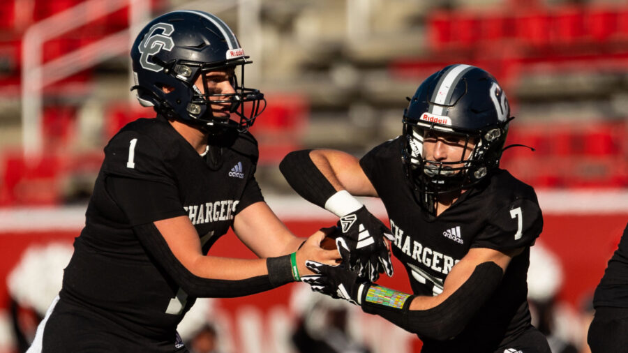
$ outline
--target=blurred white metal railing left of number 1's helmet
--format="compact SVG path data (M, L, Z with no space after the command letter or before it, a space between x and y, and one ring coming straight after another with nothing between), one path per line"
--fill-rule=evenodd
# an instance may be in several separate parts
M128 29L43 63L43 43L63 33L129 6L129 25L135 29L150 10L149 0L89 0L33 24L22 39L22 144L27 160L42 152L43 88L80 70L128 52Z

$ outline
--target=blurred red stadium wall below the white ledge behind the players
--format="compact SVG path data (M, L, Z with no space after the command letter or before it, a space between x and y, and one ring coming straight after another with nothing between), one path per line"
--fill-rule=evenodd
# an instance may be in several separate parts
M619 241L626 222L628 212L612 214L555 214L546 213L544 216L544 232L541 234L541 241L551 249L562 261L565 270L564 285L560 290L559 298L567 301L578 308L581 301L595 288L604 269L606 262L612 255ZM287 220L286 224L295 234L312 234L319 227L329 225L330 220ZM20 256L28 246L43 244L50 241L67 241L71 243L73 238L79 234L80 230L60 230L60 231L11 231L0 232L0 280L6 283L8 273L20 260ZM234 234L223 236L214 248L211 255L253 257L250 250L244 247ZM401 263L394 260L396 268L394 278L383 278L380 283L389 287L409 291L408 277L403 272ZM281 311L286 313L282 317L287 317L287 325L294 324L294 313L290 313L288 301L295 285L286 285L271 292L256 294L239 299L219 299L216 301L217 310L227 317L232 326L232 344L237 347L235 352L245 352L244 346L262 342L266 347L271 347L267 342L270 338L266 332L272 325L273 317ZM0 289L0 310L6 310L8 306L8 294L5 287ZM260 330L255 333L246 333L241 330L241 319L243 315L258 317L258 324L262 324ZM290 321L292 320L292 321ZM384 320L380 320L370 315L362 318L371 331L381 330ZM239 324L238 324L239 322ZM361 322L362 323L362 322ZM384 326L388 327L388 326ZM387 328L389 329L389 328ZM255 330L253 330L255 331ZM285 333L287 334L287 333ZM368 335L368 332L365 333ZM377 337L371 345L377 345ZM408 347L408 352L417 351L420 342L413 336L400 336L403 344ZM248 342L248 343L247 343ZM252 343L253 342L253 343ZM380 343L381 344L381 343ZM270 345L270 346L269 346ZM271 352L272 350L261 350L260 352Z

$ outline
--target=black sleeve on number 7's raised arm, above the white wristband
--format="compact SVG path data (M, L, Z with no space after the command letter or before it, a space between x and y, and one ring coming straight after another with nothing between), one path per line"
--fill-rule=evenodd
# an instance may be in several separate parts
M336 189L312 162L310 151L304 149L288 153L279 163L279 170L297 194L324 208L325 202L336 193Z

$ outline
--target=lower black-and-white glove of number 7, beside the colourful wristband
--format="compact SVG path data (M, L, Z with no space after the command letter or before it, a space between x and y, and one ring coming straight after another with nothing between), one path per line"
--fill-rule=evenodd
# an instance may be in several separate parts
M314 275L301 276L301 280L311 286L314 292L327 294L335 299L345 299L356 305L361 304L361 296L371 286L371 282L360 278L345 266L329 266L315 261L306 261L306 266Z

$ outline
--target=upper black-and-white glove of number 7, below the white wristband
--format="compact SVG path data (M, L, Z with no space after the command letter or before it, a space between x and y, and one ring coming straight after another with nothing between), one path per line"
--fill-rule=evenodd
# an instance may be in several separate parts
M338 220L342 236L336 238L336 247L348 268L357 271L360 277L375 282L380 273L393 275L390 251L384 243L384 236L394 241L391 231L361 206L357 211Z

